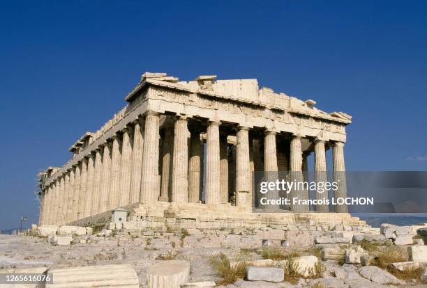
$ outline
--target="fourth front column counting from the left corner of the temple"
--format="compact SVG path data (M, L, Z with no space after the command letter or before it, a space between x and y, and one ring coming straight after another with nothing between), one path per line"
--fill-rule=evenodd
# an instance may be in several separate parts
M249 129L237 131L236 206L250 207Z

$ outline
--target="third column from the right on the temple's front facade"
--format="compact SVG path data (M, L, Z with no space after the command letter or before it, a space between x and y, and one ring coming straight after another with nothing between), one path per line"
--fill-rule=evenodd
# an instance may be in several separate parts
M302 149L301 149L301 136L294 135L290 143L290 181L296 183L304 182L302 175ZM301 186L301 185L300 185ZM305 199L306 192L303 187L297 187L291 191L291 210L296 212L308 211L308 205L294 204L294 199Z

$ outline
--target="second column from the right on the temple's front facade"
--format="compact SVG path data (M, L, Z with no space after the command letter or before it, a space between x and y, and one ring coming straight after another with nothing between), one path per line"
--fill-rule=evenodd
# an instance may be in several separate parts
M315 182L317 184L326 183L327 177L327 163L326 163L326 151L324 150L324 141L315 140ZM321 191L317 189L315 191L316 200L327 200L328 191ZM316 211L318 212L329 212L329 205L316 205Z

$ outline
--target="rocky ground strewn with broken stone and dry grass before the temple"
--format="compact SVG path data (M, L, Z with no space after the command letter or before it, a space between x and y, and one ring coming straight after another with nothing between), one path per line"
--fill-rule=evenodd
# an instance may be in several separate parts
M411 228L383 225L377 232L366 230L359 234L353 231L351 239L344 232L344 227L313 234L288 231L284 237L289 238L292 245L282 241L282 246L263 240L264 236L260 236L265 235L263 231L159 233L103 230L92 235L74 234L69 245L59 245L52 241L52 237L49 241L53 243L48 243L47 237L40 235L2 234L0 273L5 269L33 266L57 269L131 264L141 287L144 287L149 267L181 259L190 263L188 282L214 281L227 288L427 287L423 282L427 281L427 270L424 271L425 263L422 262L423 257L427 262L426 250L413 250L417 255L406 252L410 246L427 247L421 243L422 237L411 234ZM301 239L301 245L297 245L298 239ZM416 257L417 261L411 261ZM393 266L391 263L394 262L408 263ZM249 266L262 266L267 270L248 274L245 268ZM277 273L273 275L273 267L282 269L279 278L285 271L284 280L272 282L277 277Z

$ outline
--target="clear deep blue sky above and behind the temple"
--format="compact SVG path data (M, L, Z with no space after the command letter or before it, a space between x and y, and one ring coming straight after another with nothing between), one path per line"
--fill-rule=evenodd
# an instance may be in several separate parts
M257 78L353 116L347 170L426 170L426 15L426 1L2 1L0 229L38 221L38 170L144 71Z

